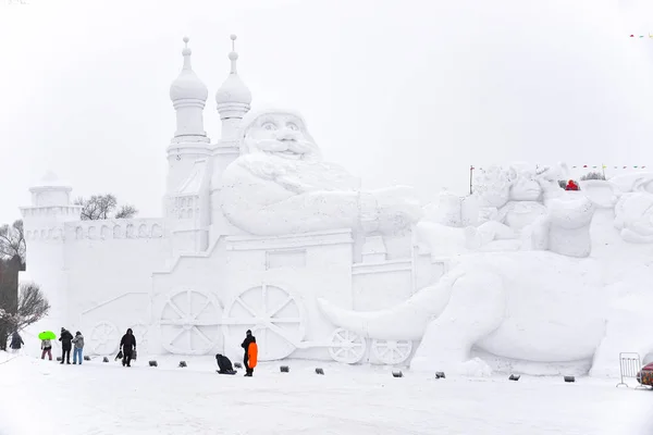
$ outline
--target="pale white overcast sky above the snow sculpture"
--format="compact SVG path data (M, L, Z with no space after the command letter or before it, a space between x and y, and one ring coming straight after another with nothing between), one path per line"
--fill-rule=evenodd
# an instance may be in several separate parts
M26 1L0 4L0 223L48 170L160 215L185 35L212 139L235 33L252 105L300 111L369 187L429 201L470 164L653 166L651 1Z

